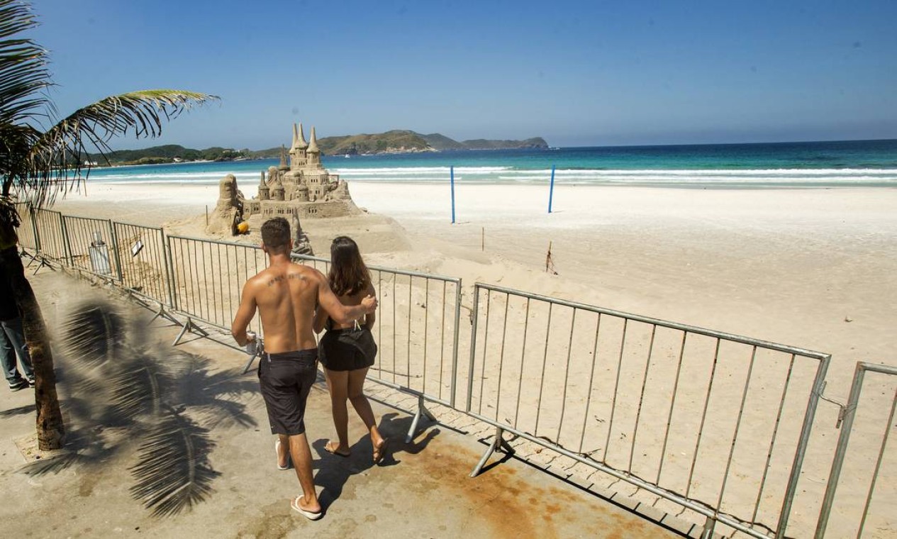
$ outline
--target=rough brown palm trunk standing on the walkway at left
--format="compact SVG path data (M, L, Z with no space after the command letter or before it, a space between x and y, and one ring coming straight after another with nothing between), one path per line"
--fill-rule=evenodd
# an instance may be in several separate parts
M37 404L38 448L60 449L65 436L65 425L59 409L56 391L56 371L53 369L53 352L50 351L47 325L40 314L40 306L31 284L25 278L25 268L16 246L0 251L0 259L6 267L13 286L15 302L22 312L22 328L25 342L34 365L34 400Z

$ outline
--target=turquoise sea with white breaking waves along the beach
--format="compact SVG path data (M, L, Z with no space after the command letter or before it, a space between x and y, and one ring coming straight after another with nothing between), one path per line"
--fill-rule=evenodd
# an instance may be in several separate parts
M651 187L897 187L897 140L701 144L325 156L350 181L547 183ZM94 169L91 182L257 184L278 161Z

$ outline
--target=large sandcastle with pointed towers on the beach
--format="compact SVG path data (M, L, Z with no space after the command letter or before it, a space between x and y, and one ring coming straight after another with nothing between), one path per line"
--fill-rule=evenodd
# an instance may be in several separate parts
M222 178L218 202L209 216L206 231L210 234L230 231L236 235L240 222L248 222L258 215L259 225L272 217L292 220L296 227L294 233L303 235L298 227L302 217L342 217L360 213L345 181L321 164L314 126L311 127L311 139L306 142L302 125L297 128L293 124L289 165L286 153L281 147L280 165L268 167L267 174L264 170L261 172L257 197L243 196L237 188L237 178L232 174Z

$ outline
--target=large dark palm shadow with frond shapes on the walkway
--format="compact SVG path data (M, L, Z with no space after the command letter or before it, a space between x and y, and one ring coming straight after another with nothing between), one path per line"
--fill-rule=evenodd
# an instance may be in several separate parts
M66 453L25 473L115 465L136 443L131 495L153 516L170 517L213 492L220 474L208 459L215 447L210 430L255 427L239 397L257 384L240 369L214 372L208 358L148 343L132 329L105 301L86 302L68 317L58 381L75 428Z

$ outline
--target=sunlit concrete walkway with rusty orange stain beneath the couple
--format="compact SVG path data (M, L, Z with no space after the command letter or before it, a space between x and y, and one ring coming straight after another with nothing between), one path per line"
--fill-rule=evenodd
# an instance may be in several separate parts
M50 327L59 326L73 296L97 293L65 274L41 270L31 279ZM143 312L145 311L138 311ZM145 316L145 314L143 315ZM153 324L161 357L177 335L175 326ZM231 374L245 354L207 339L187 337L179 351L207 358L207 374L255 383L254 370ZM57 356L59 347L57 346ZM59 358L57 363L64 362ZM231 377L231 378L228 378ZM195 388L197 391L199 388ZM210 388L206 387L205 391ZM390 438L382 465L370 462L370 441L350 409L352 456L332 456L324 445L333 435L323 385L309 396L306 418L325 516L311 522L290 509L300 493L293 470L274 463L264 403L257 390L219 396L242 406L240 421L219 418L210 428L215 447L209 461L220 474L213 491L173 517L153 517L129 491L143 432L102 430L104 456L91 464L30 475L28 449L34 436L31 390L0 389L0 504L3 535L9 537L675 537L679 536L549 474L509 459L476 479L467 474L483 444L440 425L413 443L404 435L412 418L372 403ZM65 404L64 404L65 405ZM84 425L69 425L77 432ZM21 446L20 447L17 447ZM24 451L24 454L23 454Z

